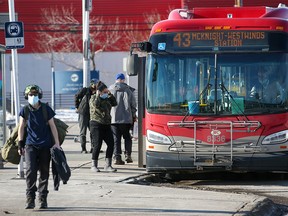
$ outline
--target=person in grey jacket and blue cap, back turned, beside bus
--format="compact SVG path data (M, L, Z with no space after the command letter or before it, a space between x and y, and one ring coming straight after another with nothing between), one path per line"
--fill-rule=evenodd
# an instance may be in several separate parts
M124 165L121 154L121 139L124 138L125 160L132 163L131 125L136 121L137 104L133 88L125 83L125 75L116 75L116 82L109 87L110 92L117 100L117 106L111 109L111 128L114 136L114 159L116 165Z

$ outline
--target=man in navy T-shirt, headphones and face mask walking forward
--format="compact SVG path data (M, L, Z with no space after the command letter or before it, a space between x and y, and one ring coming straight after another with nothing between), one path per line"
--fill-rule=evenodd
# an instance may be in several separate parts
M53 120L55 112L50 106L46 105L47 119L45 119L42 110L44 106L42 106L40 101L43 93L39 86L28 85L25 88L24 96L29 105L23 107L19 114L18 153L20 155L25 154L27 186L25 208L33 209L35 207L35 193L38 191L40 209L46 209L48 207L50 148L60 149L58 132ZM28 119L27 111L29 112ZM26 138L24 136L25 130L27 134ZM54 142L52 138L54 138ZM37 188L38 171L39 184Z

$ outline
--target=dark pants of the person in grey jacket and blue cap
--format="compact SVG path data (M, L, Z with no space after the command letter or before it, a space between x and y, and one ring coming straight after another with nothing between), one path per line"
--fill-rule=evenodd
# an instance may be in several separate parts
M113 137L114 137L114 155L115 159L120 159L121 150L121 138L123 136L125 145L125 154L131 155L132 153L132 139L130 134L131 124L112 124L111 125Z

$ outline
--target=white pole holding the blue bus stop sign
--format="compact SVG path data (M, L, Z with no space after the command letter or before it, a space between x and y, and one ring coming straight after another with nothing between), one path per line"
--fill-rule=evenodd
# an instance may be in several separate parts
M10 22L15 21L15 7L14 0L9 0L9 20ZM13 90L14 90L14 101L15 101L15 123L16 125L19 122L19 89L18 89L18 56L17 49L11 49L12 56L12 76L13 76ZM11 77L12 77L11 76ZM21 156L20 163L18 165L18 175L20 178L24 178L24 168L23 168L23 156Z

